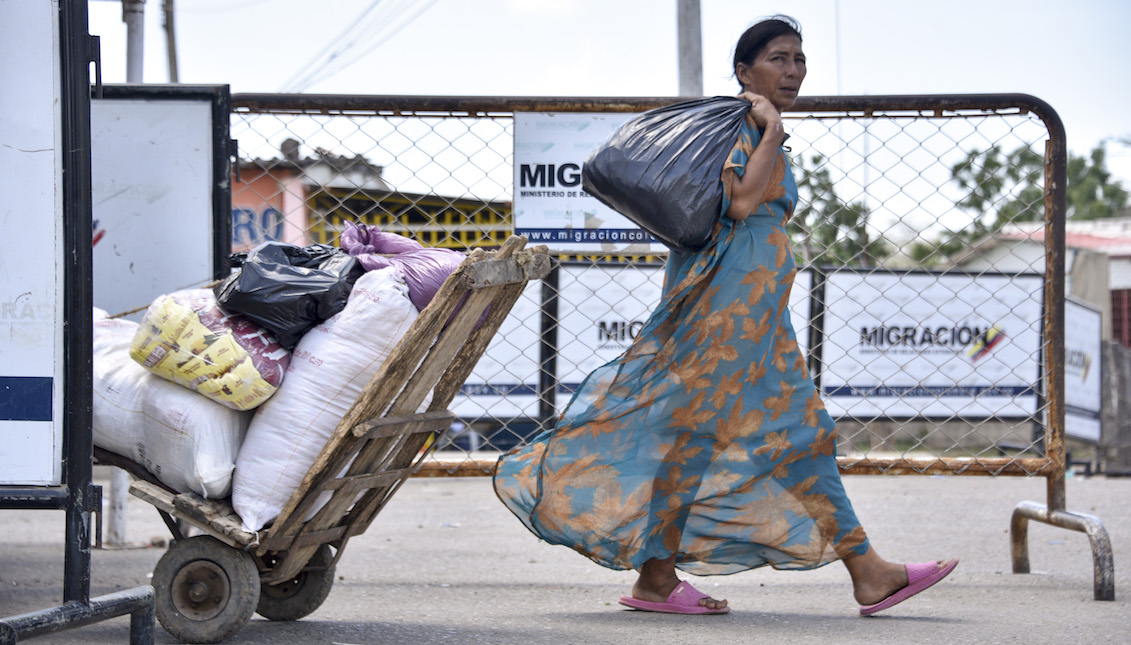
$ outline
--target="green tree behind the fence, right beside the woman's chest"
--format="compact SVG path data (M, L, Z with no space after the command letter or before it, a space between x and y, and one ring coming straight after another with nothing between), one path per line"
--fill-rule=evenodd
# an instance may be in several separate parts
M798 156L800 204L789 220L791 236L806 265L875 266L891 255L872 235L872 210L862 201L846 204L837 196L828 164L821 155Z

